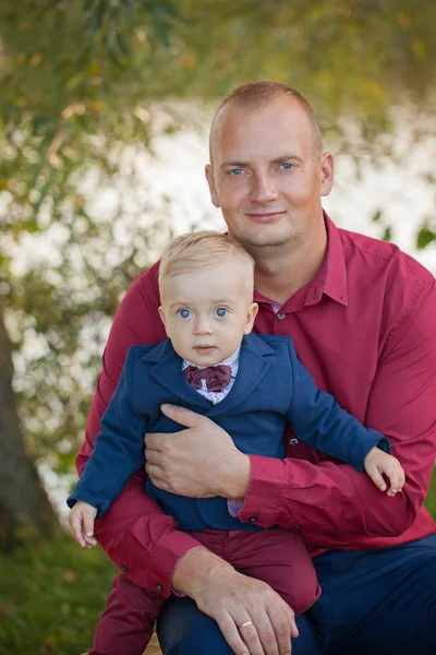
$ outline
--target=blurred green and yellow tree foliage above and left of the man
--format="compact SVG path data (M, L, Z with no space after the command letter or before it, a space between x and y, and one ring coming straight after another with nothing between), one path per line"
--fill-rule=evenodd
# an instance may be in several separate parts
M413 108L416 141L433 133L419 118L435 103L435 24L433 0L0 0L0 296L33 456L71 469L110 319L171 236L165 202L135 195L135 157L254 79L296 86L358 162L393 156L379 139L392 106ZM90 178L114 193L110 217L90 210ZM53 234L58 260L16 272L16 249Z

